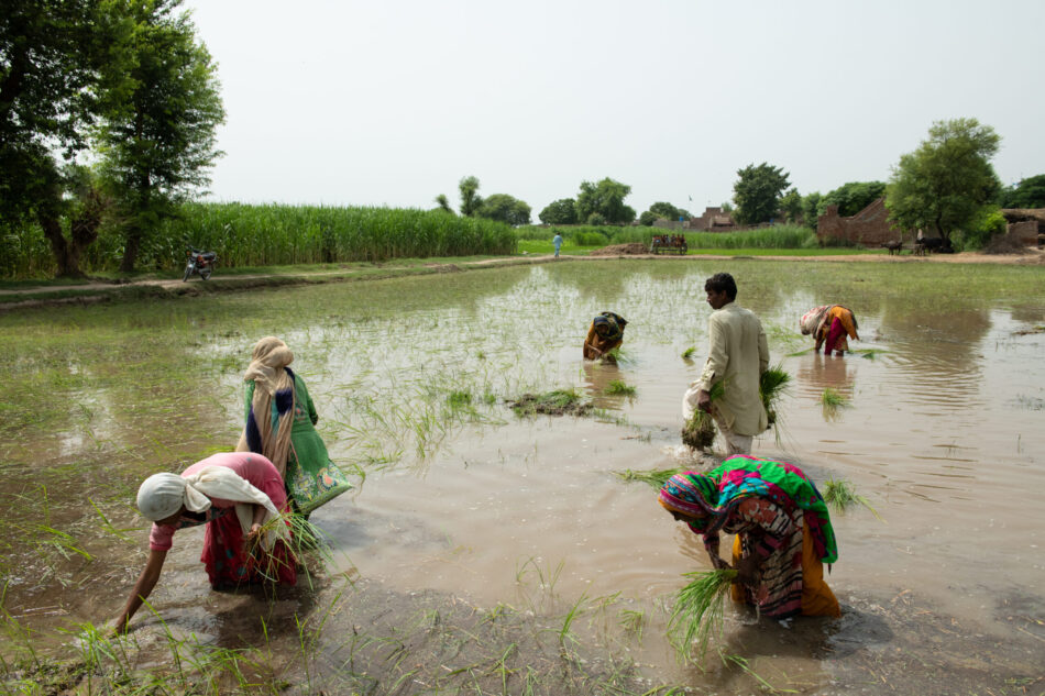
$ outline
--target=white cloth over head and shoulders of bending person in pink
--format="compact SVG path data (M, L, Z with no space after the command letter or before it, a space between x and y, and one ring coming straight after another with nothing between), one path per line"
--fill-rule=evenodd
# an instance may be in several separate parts
M145 519L155 522L170 517L183 505L190 512L202 512L210 508L211 498L234 500L238 504L235 515L244 534L251 531L254 505L265 508L263 524L279 517L279 510L264 491L226 466L208 466L188 476L153 474L138 489L138 509ZM285 524L275 524L274 528L274 533L265 535L266 549L271 549L276 539L286 538Z

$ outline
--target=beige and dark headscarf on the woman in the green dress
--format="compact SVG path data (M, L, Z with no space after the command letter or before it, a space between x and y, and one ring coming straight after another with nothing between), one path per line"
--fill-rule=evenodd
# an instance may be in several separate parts
M246 444L251 452L264 454L280 476L286 475L290 431L294 426L294 373L287 367L294 353L275 336L265 336L254 344L251 364L243 373L244 382L254 383L254 397L246 417ZM276 404L278 420L273 433L272 405Z

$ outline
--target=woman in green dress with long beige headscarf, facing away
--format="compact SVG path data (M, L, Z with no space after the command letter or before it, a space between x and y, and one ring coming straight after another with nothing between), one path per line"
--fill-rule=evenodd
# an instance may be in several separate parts
M305 380L290 371L286 343L266 336L254 344L246 382L246 426L237 451L256 452L283 476L294 510L308 515L352 487L330 461L316 432L319 415Z

